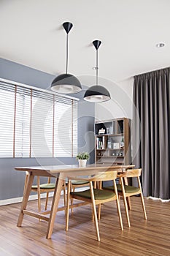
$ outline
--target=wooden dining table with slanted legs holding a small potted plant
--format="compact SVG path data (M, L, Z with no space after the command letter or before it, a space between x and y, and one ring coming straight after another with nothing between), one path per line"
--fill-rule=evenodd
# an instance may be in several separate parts
M38 219L44 219L48 222L46 238L51 238L55 222L55 215L58 211L58 203L61 197L61 190L63 189L63 181L66 178L74 179L85 176L97 175L98 173L107 170L116 170L117 172L125 172L125 170L134 167L134 165L87 165L86 167L79 167L78 165L52 165L52 166L29 166L29 167L15 167L15 170L28 172L28 181L23 192L23 201L20 207L20 214L18 217L18 227L21 227L24 214ZM34 176L55 177L55 191L53 195L53 202L50 208L50 217L45 214L28 211L26 209L28 204L28 197L31 193L31 187L34 181Z

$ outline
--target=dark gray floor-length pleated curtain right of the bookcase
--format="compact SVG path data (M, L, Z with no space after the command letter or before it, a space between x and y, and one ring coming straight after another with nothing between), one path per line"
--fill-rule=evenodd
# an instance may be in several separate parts
M145 196L170 198L170 68L134 77L133 162Z

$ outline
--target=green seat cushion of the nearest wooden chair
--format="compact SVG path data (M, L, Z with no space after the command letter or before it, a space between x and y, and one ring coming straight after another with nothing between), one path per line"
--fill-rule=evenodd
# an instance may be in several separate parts
M109 190L93 189L95 200L109 199L115 196L115 192ZM71 192L71 195L77 195L80 197L91 198L90 189L81 192Z

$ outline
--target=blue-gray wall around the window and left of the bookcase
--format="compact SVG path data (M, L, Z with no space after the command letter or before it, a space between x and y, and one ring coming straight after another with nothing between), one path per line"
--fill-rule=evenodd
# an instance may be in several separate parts
M20 64L5 59L0 59L0 78L26 83L42 89L50 89L50 83L54 76L31 69ZM85 86L83 86L85 89ZM94 114L95 106L93 103L82 100L84 91L72 95L79 97L78 104L78 148L79 151L90 152L89 163L94 162ZM0 158L0 200L5 200L23 195L23 185L25 173L14 169L15 166L31 165L61 165L77 164L75 158Z

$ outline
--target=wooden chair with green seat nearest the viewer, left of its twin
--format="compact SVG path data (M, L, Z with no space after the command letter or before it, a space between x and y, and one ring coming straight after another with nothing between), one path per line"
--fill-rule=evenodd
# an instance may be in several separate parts
M92 178L88 178L88 181L90 183L90 189L86 189L81 192L70 192L71 189L71 180L68 182L68 191L67 191L67 208L66 208L66 230L69 229L69 199L74 198L77 200L82 200L84 202L90 203L93 206L93 216L95 219L95 226L96 226L96 235L97 240L100 241L100 235L98 230L98 217L96 213L96 205L99 205L101 203L107 203L112 200L116 200L117 202L117 212L120 220L120 227L121 230L123 230L123 222L120 212L120 204L117 194L117 187L115 183L115 179L117 178L117 172L116 171L108 171L98 174L97 176L93 176ZM83 179L84 181L87 181L87 178ZM108 191L104 189L95 189L93 188L93 182L96 183L96 181L113 181L113 185L115 187L115 191Z

